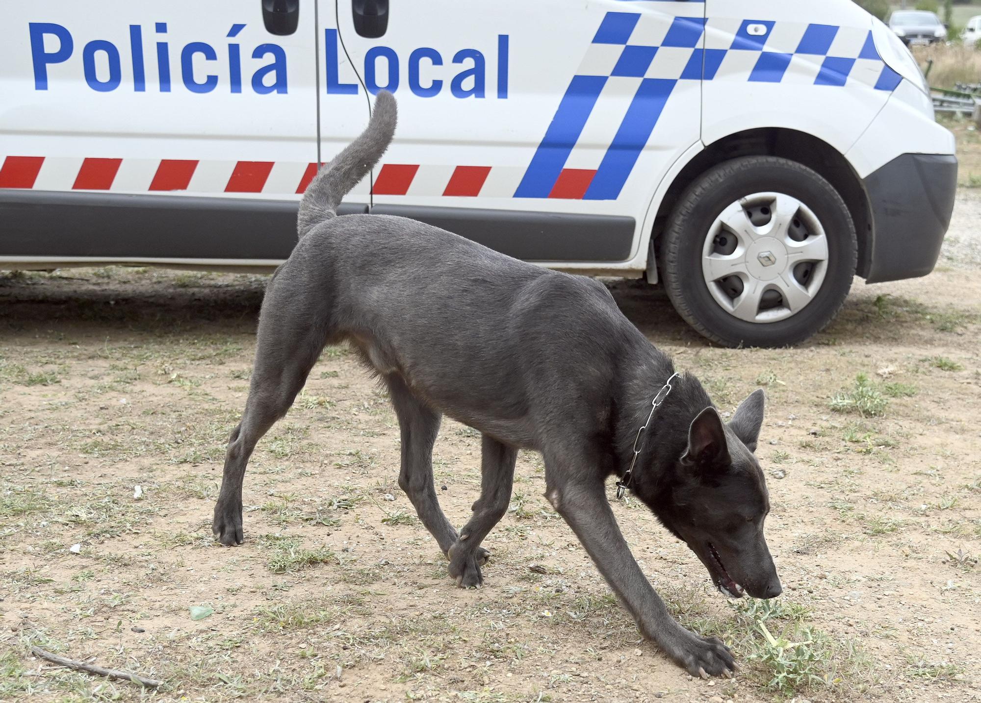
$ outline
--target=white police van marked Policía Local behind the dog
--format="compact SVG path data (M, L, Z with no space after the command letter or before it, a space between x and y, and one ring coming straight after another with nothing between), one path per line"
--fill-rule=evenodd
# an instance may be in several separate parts
M49 0L0 26L0 268L271 270L381 89L342 213L661 282L722 344L928 274L953 209L954 137L852 0Z

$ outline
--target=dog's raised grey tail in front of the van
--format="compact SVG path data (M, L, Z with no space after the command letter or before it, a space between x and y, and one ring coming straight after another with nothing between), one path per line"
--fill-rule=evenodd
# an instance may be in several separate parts
M296 220L300 236L336 216L340 199L382 158L395 133L397 116L395 97L387 90L379 91L368 126L327 168L320 170L303 193Z

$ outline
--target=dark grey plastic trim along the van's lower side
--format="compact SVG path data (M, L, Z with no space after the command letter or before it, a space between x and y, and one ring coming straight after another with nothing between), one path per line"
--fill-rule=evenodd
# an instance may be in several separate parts
M0 189L0 258L284 260L296 244L298 203L284 200ZM365 214L341 204L338 214ZM379 205L517 259L621 262L635 220L469 208Z

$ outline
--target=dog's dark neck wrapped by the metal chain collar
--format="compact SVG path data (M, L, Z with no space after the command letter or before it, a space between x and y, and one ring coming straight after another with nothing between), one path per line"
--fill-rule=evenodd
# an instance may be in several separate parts
M650 415L650 404L664 383L675 373L667 355L650 347L646 358L633 364L623 375L621 412L616 425L617 459L622 475L634 456L637 431L644 427ZM712 404L694 376L682 374L671 381L671 392L654 411L649 425L642 433L637 448L637 468L634 480L643 474L659 476L685 453L688 430L698 413Z

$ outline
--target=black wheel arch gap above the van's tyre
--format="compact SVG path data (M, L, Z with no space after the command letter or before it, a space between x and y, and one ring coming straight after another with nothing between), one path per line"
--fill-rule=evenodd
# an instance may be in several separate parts
M777 156L795 161L823 176L838 191L852 214L858 244L855 267L858 276L867 276L872 250L872 212L861 178L835 147L822 139L796 129L763 127L722 137L704 149L675 176L657 208L651 240L655 254L667 220L682 194L699 176L719 164L745 156ZM659 258L659 257L658 257Z

